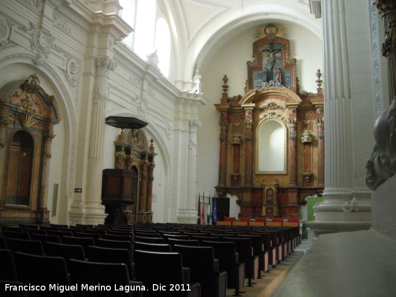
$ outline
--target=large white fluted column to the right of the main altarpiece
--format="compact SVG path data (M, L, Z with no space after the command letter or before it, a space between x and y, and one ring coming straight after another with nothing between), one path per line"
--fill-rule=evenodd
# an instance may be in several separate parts
M345 0L323 0L325 190L315 221L344 220L352 199L351 95Z

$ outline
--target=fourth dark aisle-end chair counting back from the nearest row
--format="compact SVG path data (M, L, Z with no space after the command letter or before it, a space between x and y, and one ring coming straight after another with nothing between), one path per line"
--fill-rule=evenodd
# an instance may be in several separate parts
M251 239L225 237L223 240L235 243L235 249L238 253L239 261L244 262L246 266L245 278L248 280L247 285L252 287L251 280L258 277L258 257L253 255Z

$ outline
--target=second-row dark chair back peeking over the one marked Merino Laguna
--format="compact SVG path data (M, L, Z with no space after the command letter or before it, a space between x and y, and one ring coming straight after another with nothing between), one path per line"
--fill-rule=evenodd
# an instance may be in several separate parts
M124 263L127 265L131 280L136 278L133 256L126 248L87 247L86 256L90 262Z

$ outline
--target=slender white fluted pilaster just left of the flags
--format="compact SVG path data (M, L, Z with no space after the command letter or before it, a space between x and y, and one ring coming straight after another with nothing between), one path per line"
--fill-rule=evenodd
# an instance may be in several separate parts
M197 186L197 131L202 125L198 120L189 122L189 150L187 161L187 198L185 208L178 211L179 223L197 224L198 212L195 207Z

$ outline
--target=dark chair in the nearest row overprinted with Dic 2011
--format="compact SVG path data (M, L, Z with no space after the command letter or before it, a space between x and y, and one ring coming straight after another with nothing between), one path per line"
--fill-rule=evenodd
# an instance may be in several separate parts
M186 281L179 253L135 250L134 254L137 279L148 288L157 289L146 291L145 297L200 297L199 283ZM159 284L166 291L160 291Z

